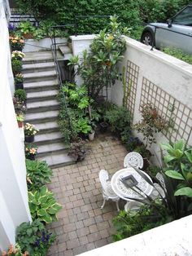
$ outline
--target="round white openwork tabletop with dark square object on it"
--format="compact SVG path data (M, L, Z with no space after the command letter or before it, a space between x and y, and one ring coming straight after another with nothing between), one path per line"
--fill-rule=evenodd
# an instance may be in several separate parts
M142 170L139 171L141 171L142 174L146 175L146 177L151 180L151 177L148 174L146 174ZM134 179L137 180L137 188L133 187L135 191L133 191L132 188L128 188L128 186L124 185L124 183L122 182L122 179L128 177L129 175L133 175ZM111 187L117 196L120 196L120 198L126 201L131 201L131 199L142 200L145 194L149 196L153 190L153 187L149 183L147 183L146 180L142 178L142 175L138 174L138 172L134 170L134 168L131 166L118 170L115 174L113 174L111 178ZM140 191L140 189L143 193ZM139 192L140 195L136 191Z

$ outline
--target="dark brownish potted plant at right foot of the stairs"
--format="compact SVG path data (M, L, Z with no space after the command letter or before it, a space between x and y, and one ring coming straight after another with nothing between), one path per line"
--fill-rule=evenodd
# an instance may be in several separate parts
M85 141L78 137L75 142L71 143L68 155L77 161L83 161L86 155Z

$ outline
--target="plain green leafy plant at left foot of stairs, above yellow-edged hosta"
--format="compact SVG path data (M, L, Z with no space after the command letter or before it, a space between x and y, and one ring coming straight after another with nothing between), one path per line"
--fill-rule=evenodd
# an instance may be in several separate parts
M39 189L45 183L50 183L53 171L46 161L31 161L26 159L28 190Z

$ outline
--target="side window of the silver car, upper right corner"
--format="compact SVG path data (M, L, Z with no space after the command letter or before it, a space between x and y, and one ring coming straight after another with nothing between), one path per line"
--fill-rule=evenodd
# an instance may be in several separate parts
M192 7L186 7L172 19L172 23L192 26Z

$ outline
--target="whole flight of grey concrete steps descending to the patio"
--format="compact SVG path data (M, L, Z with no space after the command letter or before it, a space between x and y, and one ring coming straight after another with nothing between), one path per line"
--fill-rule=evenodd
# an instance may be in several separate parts
M75 161L68 156L57 123L59 86L51 51L27 52L23 73L27 92L25 122L39 129L34 141L38 147L37 159L45 160L51 168L73 164Z

